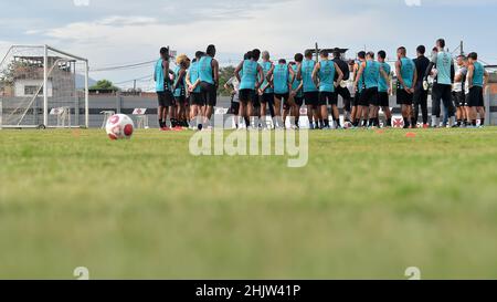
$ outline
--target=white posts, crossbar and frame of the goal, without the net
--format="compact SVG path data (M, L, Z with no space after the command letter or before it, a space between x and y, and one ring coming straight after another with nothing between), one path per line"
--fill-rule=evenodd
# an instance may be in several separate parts
M49 86L49 73L51 67L49 66L49 52L53 52L53 53L59 53L61 55L64 55L68 59L73 59L73 60L77 60L80 62L83 63L84 65L84 103L85 103L85 110L84 110L84 126L86 128L89 127L89 91L88 91L88 82L89 82L89 64L88 64L88 60L78 55L74 55L71 54L68 52L55 49L53 46L50 45L23 45L23 44L17 44L17 45L11 45L9 48L9 50L7 51L6 55L3 56L3 59L0 61L0 65L3 65L4 61L8 59L9 54L11 53L11 51L15 48L31 48L31 49L38 49L38 50L43 50L43 127L47 127L49 126L49 93L47 93L47 86ZM41 88L39 90L39 92L41 91ZM0 96L0 101L1 101L1 96ZM0 107L1 107L1 102L0 102ZM78 110L78 108L77 108ZM1 108L0 108L0 114L1 114ZM0 116L0 128L29 128L29 127L39 127L40 125L2 125L2 121L1 121L1 116ZM78 126L80 127L80 126Z

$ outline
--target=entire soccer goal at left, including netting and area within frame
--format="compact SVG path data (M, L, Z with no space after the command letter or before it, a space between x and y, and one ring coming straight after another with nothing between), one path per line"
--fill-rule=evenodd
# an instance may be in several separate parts
M88 60L12 45L0 61L0 128L88 127Z

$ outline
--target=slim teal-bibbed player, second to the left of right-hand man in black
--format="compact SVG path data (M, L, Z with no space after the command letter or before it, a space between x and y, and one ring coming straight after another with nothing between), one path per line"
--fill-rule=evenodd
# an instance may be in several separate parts
M378 104L384 113L385 127L392 126L392 112L390 111L390 101L389 96L392 93L391 88L391 77L392 69L390 64L385 62L387 52L379 51L378 52L378 62L380 63L380 79L378 80ZM378 111L377 111L378 118ZM379 125L379 121L377 119L377 125Z

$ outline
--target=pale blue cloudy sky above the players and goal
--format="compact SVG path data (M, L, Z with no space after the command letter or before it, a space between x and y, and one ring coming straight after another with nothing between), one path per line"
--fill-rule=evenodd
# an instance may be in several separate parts
M314 48L385 50L434 45L465 51L497 64L496 0L0 0L0 56L11 44L50 44L87 58L91 70L151 61L162 45L190 56L210 43L221 64L247 50L274 60ZM151 66L91 72L127 87L152 86ZM128 81L128 82L127 82Z

